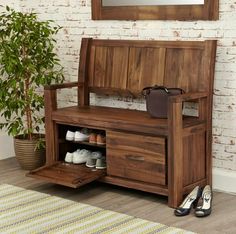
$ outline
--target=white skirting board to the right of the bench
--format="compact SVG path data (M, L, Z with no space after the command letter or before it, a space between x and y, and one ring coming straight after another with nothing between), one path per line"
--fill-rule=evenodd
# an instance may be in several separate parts
M213 168L213 189L236 194L236 171Z

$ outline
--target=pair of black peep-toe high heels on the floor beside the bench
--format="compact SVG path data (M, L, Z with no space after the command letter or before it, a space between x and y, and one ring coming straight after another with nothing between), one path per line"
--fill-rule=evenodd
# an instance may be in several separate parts
M195 215L197 217L208 216L211 214L212 198L212 190L209 185L206 185L203 190L196 186L182 204L175 209L174 214L176 216L188 215L193 207L196 208ZM201 200L201 205L197 207L199 199Z

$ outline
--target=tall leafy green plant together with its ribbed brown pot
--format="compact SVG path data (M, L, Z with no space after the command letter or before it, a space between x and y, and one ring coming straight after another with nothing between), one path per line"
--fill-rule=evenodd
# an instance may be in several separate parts
M45 160L42 87L64 78L54 53L53 36L60 27L52 23L9 7L0 14L0 129L14 137L16 158L28 170Z

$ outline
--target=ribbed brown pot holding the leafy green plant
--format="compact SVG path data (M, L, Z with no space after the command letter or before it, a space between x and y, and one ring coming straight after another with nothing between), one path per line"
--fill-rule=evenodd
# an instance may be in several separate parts
M45 149L35 149L38 140L24 139L22 136L14 138L16 159L24 170L33 170L45 164Z

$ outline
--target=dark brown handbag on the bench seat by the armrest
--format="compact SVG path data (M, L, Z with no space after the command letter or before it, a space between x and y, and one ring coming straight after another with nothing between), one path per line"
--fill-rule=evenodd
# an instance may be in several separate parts
M167 118L168 98L184 93L180 88L167 88L164 86L146 87L142 94L146 99L147 112L154 118Z

